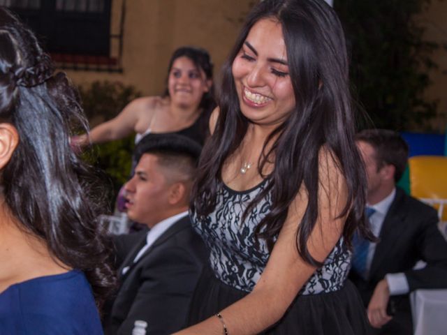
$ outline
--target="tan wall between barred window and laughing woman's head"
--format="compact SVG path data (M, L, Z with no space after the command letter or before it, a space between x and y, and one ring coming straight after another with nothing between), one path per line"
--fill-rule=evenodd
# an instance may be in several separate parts
M123 73L68 70L77 84L119 80L142 94L161 94L168 61L181 45L205 47L218 74L248 13L249 0L127 0L124 22ZM122 0L112 1L112 34L119 32ZM112 44L112 54L117 52Z

